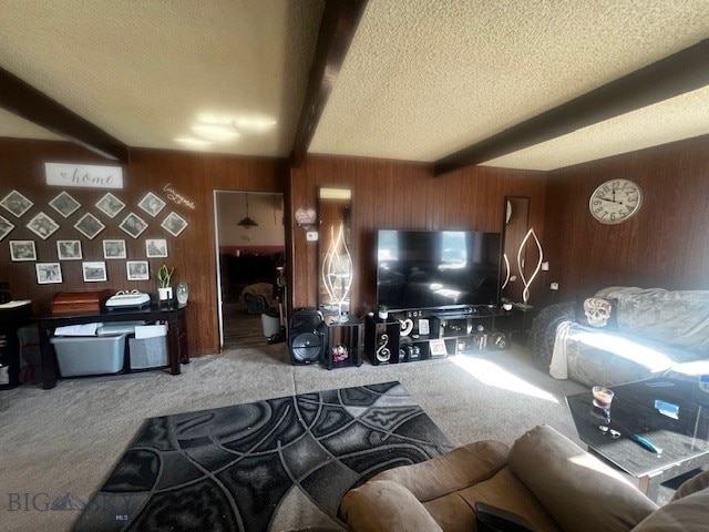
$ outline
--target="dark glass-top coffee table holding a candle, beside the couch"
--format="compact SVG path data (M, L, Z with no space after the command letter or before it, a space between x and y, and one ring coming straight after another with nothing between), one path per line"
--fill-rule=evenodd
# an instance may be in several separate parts
M637 478L647 497L656 501L662 482L709 463L709 393L699 389L698 379L656 378L612 389L610 423L593 405L590 390L567 396L566 402L588 450ZM664 408L670 416L659 412L658 400L678 407L676 419L671 407ZM662 452L634 441L634 433Z

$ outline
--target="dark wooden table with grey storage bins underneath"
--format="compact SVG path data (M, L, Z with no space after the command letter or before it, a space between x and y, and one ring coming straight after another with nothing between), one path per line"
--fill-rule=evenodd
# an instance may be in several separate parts
M35 318L40 329L40 349L42 351L42 386L45 390L56 386L56 355L49 341L56 327L111 321L165 321L167 324L167 356L172 375L179 375L179 365L189 364L187 352L187 324L185 305L153 304L151 307L131 310L106 310L81 314L52 314Z

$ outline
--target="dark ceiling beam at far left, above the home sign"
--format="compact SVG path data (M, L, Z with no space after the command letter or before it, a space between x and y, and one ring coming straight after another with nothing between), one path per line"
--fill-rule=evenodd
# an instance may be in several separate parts
M106 158L129 162L127 145L2 68L0 108Z

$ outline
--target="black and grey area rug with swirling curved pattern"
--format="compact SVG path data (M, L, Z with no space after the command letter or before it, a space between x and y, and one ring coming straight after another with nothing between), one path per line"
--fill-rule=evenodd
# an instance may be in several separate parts
M151 418L74 530L268 531L292 490L339 522L349 489L452 448L395 381Z

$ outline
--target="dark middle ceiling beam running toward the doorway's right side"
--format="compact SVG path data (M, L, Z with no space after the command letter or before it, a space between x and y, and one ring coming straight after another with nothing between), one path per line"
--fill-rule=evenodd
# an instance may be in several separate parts
M366 7L367 0L327 0L325 3L290 157L296 167L305 161Z

